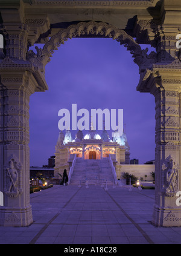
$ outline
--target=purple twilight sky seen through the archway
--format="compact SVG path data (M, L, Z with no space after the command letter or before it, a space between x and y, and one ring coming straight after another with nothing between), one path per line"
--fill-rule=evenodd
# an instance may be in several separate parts
M122 108L130 159L154 159L154 96L136 91L138 66L123 45L112 39L69 39L52 54L45 77L49 90L30 97L30 166L48 164L59 136L58 112L71 110L72 103L89 113Z

